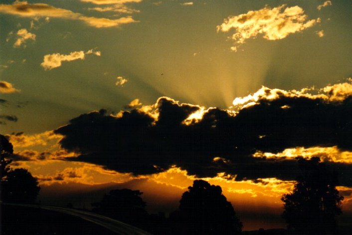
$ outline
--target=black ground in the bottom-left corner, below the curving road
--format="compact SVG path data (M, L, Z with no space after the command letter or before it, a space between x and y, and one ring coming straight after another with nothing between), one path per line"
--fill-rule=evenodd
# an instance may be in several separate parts
M1 205L1 235L116 235L113 232L58 212Z

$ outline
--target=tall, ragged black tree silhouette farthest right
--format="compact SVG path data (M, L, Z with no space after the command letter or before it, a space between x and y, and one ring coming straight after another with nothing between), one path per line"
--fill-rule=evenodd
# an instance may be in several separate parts
M340 215L344 197L336 189L338 176L320 159L300 159L301 174L292 193L282 197L283 218L288 229L300 235L337 234L336 215Z

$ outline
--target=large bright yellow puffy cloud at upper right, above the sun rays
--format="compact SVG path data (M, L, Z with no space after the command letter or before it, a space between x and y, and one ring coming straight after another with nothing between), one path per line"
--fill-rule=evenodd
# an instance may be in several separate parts
M235 42L231 49L236 51L246 39L255 38L258 34L263 34L263 38L267 40L279 40L320 22L320 18L307 18L304 10L297 5L280 5L274 8L265 6L259 10L225 18L224 22L217 26L217 31L228 32L232 28L235 29L230 38Z

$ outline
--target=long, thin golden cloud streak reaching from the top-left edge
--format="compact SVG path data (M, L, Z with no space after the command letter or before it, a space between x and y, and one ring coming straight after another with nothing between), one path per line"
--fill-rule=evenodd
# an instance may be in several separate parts
M119 19L97 18L85 16L71 10L56 8L44 3L30 4L27 1L14 1L11 5L0 4L0 12L18 15L21 17L54 17L81 20L90 26L102 28L136 22L131 16Z

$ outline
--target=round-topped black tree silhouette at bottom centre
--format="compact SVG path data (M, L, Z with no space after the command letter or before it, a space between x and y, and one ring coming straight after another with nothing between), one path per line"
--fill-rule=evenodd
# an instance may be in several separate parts
M179 211L170 215L180 224L178 234L241 234L242 223L220 186L195 180L179 201Z

